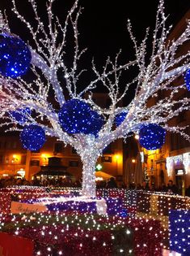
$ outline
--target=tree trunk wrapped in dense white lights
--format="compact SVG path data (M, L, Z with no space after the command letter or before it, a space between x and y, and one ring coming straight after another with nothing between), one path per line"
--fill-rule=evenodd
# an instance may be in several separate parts
M82 155L82 196L95 198L96 184L95 184L95 164L98 156L93 154L92 150L85 150L86 153Z

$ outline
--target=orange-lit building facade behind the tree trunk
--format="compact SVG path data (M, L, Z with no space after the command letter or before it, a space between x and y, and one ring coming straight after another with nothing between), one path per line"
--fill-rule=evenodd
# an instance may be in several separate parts
M97 164L104 171L118 178L123 173L122 141L118 140L103 151ZM31 180L41 167L49 164L49 158L61 158L61 165L78 180L82 177L82 162L74 148L64 145L55 138L47 138L43 148L37 152L23 150L19 135L0 137L0 176L16 176L18 171L25 171L25 178Z

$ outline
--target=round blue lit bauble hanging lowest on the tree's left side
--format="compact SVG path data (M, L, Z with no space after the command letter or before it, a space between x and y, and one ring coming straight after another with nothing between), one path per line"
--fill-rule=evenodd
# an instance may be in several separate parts
M25 126L23 131L20 132L20 140L24 149L32 151L40 150L45 142L44 129L35 124Z

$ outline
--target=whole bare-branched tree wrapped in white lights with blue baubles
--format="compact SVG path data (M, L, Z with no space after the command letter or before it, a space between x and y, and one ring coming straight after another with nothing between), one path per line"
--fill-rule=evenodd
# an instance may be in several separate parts
M6 126L9 131L20 131L25 149L39 150L44 145L45 136L56 137L74 147L83 164L82 195L95 197L95 163L112 141L138 132L141 145L155 150L163 145L166 131L179 132L189 139L185 127L168 125L170 119L189 109L188 98L175 98L179 89L186 88L185 82L171 86L177 77L185 74L189 89L190 53L177 55L179 47L190 38L189 22L184 33L168 41L171 28L166 28L167 18L163 0L160 0L149 60L146 53L149 30L138 44L129 21L127 28L136 53L134 59L120 65L119 52L114 60L108 57L102 69L92 61L95 79L80 91L78 81L86 70L78 68L78 61L86 49L81 50L78 45L81 13L78 0L66 15L64 24L53 14L54 0L47 2L48 23L41 20L36 1L28 2L35 23L20 15L15 0L12 0L13 11L32 35L30 42L25 43L11 33L6 14L0 14L1 126ZM66 38L71 33L74 35L74 54L70 56L72 67L65 61L69 44ZM123 73L133 66L138 68L137 76L126 81L125 89L120 88ZM32 81L23 79L28 70L33 74ZM64 77L64 85L59 77ZM111 99L107 109L93 101L93 90L99 83L108 90ZM131 85L136 86L133 100L128 106L119 107ZM158 91L163 90L167 90L167 96L159 99ZM147 106L150 98L158 98L154 106Z

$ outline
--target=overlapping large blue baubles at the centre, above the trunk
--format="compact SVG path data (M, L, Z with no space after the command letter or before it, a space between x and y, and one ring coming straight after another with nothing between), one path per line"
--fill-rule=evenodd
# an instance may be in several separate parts
M78 99L71 99L61 107L59 121L65 132L97 135L103 126L103 117L91 106Z

